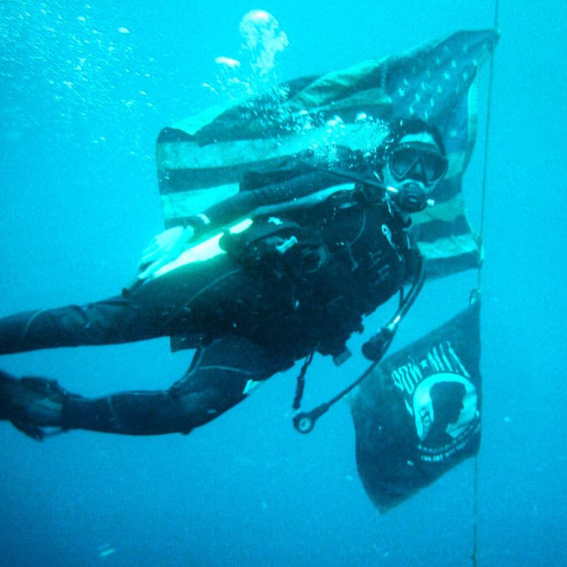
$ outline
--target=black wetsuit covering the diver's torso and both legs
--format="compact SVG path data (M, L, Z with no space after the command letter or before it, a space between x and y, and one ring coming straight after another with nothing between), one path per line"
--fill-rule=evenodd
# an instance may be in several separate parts
M263 199L289 199L294 186L301 198L341 183L331 174L311 174L287 182L285 192L272 187L233 201L243 211L259 211ZM417 250L408 223L383 196L369 199L363 189L338 190L277 219L257 216L241 240L221 241L227 253L203 262L206 267L175 270L106 301L0 319L0 354L176 337L197 350L170 389L97 399L69 394L62 427L130 435L189 432L310 352L339 356L349 336L362 330L362 316L412 275ZM223 224L223 210L234 207L216 205L207 213ZM254 231L256 240L249 238ZM293 245L279 252L282 242ZM204 279L200 270L209 270Z

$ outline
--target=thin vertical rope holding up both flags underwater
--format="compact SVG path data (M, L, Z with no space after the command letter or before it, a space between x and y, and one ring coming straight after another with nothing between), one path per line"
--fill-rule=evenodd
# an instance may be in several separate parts
M500 7L500 0L495 0L494 2L494 30L498 30L498 9ZM483 196L481 200L481 226L480 226L480 236L481 243L484 246L484 229L485 229L485 205L486 205L486 185L487 185L487 172L488 172L488 142L490 133L490 119L491 119L491 108L492 108L492 83L494 78L494 49L492 50L490 56L490 74L488 80L488 102L486 109L486 132L485 132L485 156L483 164ZM483 267L478 267L478 281L476 283L476 289L478 294L481 292L482 284L482 273ZM472 566L478 566L478 454L474 456L474 505L473 505L473 529L472 529L472 553L471 561Z

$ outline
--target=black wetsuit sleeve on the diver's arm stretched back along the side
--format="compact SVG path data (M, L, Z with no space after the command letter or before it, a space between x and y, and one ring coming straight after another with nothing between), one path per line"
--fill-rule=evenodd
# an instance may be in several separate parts
M254 214L267 214L270 207L277 209L289 203L290 206L297 200L313 197L313 203L317 201L317 194L324 192L329 187L343 185L345 178L330 172L310 172L301 174L283 183L275 183L250 189L229 197L216 205L212 205L201 215L189 219L189 223L196 228L210 230L222 227L224 224L233 222L238 218ZM306 203L308 206L310 203ZM203 219L205 216L205 219ZM203 222L205 220L205 222Z

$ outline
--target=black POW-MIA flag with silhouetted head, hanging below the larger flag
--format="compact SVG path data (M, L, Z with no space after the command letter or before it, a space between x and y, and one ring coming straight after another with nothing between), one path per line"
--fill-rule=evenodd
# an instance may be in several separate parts
M358 474L382 513L478 451L479 315L475 301L386 358L349 397Z

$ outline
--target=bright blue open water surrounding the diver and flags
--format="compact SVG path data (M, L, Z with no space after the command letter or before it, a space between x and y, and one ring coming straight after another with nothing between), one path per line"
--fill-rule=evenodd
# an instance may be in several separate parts
M141 249L162 229L157 133L215 102L201 84L215 80L214 58L238 56L248 10L273 12L288 34L280 78L399 54L494 17L485 0L165 5L0 4L1 315L101 299L132 281ZM484 566L567 563L565 16L559 0L500 6L483 270ZM487 76L485 68L465 178L477 220ZM474 281L428 285L397 345L463 307ZM100 395L166 387L188 363L161 339L7 356L1 367ZM359 357L340 371L317 359L305 406L363 367ZM356 476L347 405L300 436L293 391L294 371L278 375L189 437L70 432L38 444L0 424L0 565L470 564L472 461L379 516Z

